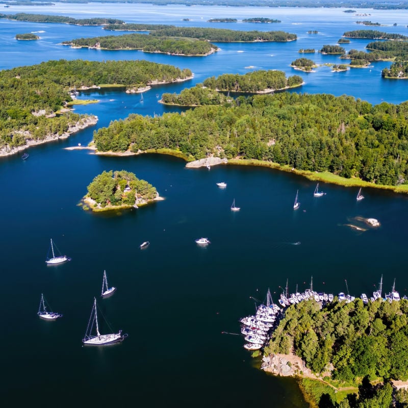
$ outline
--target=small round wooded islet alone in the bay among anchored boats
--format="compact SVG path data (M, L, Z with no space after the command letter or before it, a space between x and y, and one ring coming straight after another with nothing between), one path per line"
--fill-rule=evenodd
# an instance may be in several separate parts
M139 208L161 199L156 188L129 171L104 171L87 187L84 210L93 212Z

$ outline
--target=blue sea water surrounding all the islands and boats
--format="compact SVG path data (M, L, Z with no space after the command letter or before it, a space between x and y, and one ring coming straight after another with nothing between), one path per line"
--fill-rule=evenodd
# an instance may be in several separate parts
M289 65L299 48L335 44L348 30L363 29L356 20L384 24L379 29L408 34L408 12L342 9L184 7L110 4L56 4L53 7L13 6L7 13L32 12L72 17L116 17L127 22L168 23L234 30L284 30L298 35L290 43L221 43L209 57L175 57L141 52L71 49L59 43L79 37L119 34L100 27L77 27L0 20L0 68L31 65L50 59L147 59L190 68L188 83L161 86L144 94L91 92L99 104L77 108L94 113L98 124L61 142L0 160L2 199L3 328L0 390L7 405L85 406L111 403L138 406L303 408L297 384L258 370L242 345L238 319L251 314L250 296L264 299L268 287L278 298L288 279L290 291L309 286L318 291L371 293L381 274L384 285L408 294L403 266L406 250L408 198L365 189L321 184L327 194L313 198L315 184L301 177L265 168L219 166L186 169L176 158L98 157L86 150L65 150L92 139L92 132L130 113L170 111L158 103L163 92L180 92L212 75L279 69ZM279 24L208 23L209 18L270 17ZM190 21L182 21L190 18ZM393 24L397 23L395 27ZM318 30L315 35L309 30ZM37 32L41 40L18 42L18 33ZM352 40L345 48L364 49L368 40ZM308 56L307 56L308 57ZM336 56L309 55L316 63L341 63ZM401 103L408 82L381 79L390 63L333 73L329 67L300 73L301 92L349 94L372 104ZM118 215L92 215L77 206L86 186L103 170L125 169L156 186L165 197L146 208ZM219 189L216 182L227 183ZM300 210L293 211L296 190ZM230 206L236 199L239 213ZM363 227L356 217L377 218L381 226ZM208 237L199 248L194 239ZM72 257L46 267L49 239ZM139 244L150 241L141 251ZM295 242L300 245L293 245ZM123 329L122 344L82 347L94 296L100 293L103 271L117 292L98 300L103 333ZM64 314L41 321L41 293L50 307ZM109 324L109 325L108 325ZM223 334L227 332L230 334Z

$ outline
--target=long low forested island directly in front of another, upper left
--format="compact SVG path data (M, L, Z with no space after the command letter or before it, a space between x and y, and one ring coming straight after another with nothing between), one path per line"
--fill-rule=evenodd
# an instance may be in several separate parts
M206 56L217 51L211 42L195 38L154 37L144 34L123 34L63 41L63 45L95 49L140 49L144 53L165 53Z

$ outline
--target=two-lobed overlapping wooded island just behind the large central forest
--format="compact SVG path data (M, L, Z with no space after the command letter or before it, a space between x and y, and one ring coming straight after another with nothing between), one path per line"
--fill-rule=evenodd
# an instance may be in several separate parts
M283 71L253 71L244 75L222 74L204 80L193 88L185 88L180 94L164 93L162 103L166 105L201 106L235 104L235 100L225 96L224 92L270 93L276 90L294 88L303 84L298 75L285 77Z

